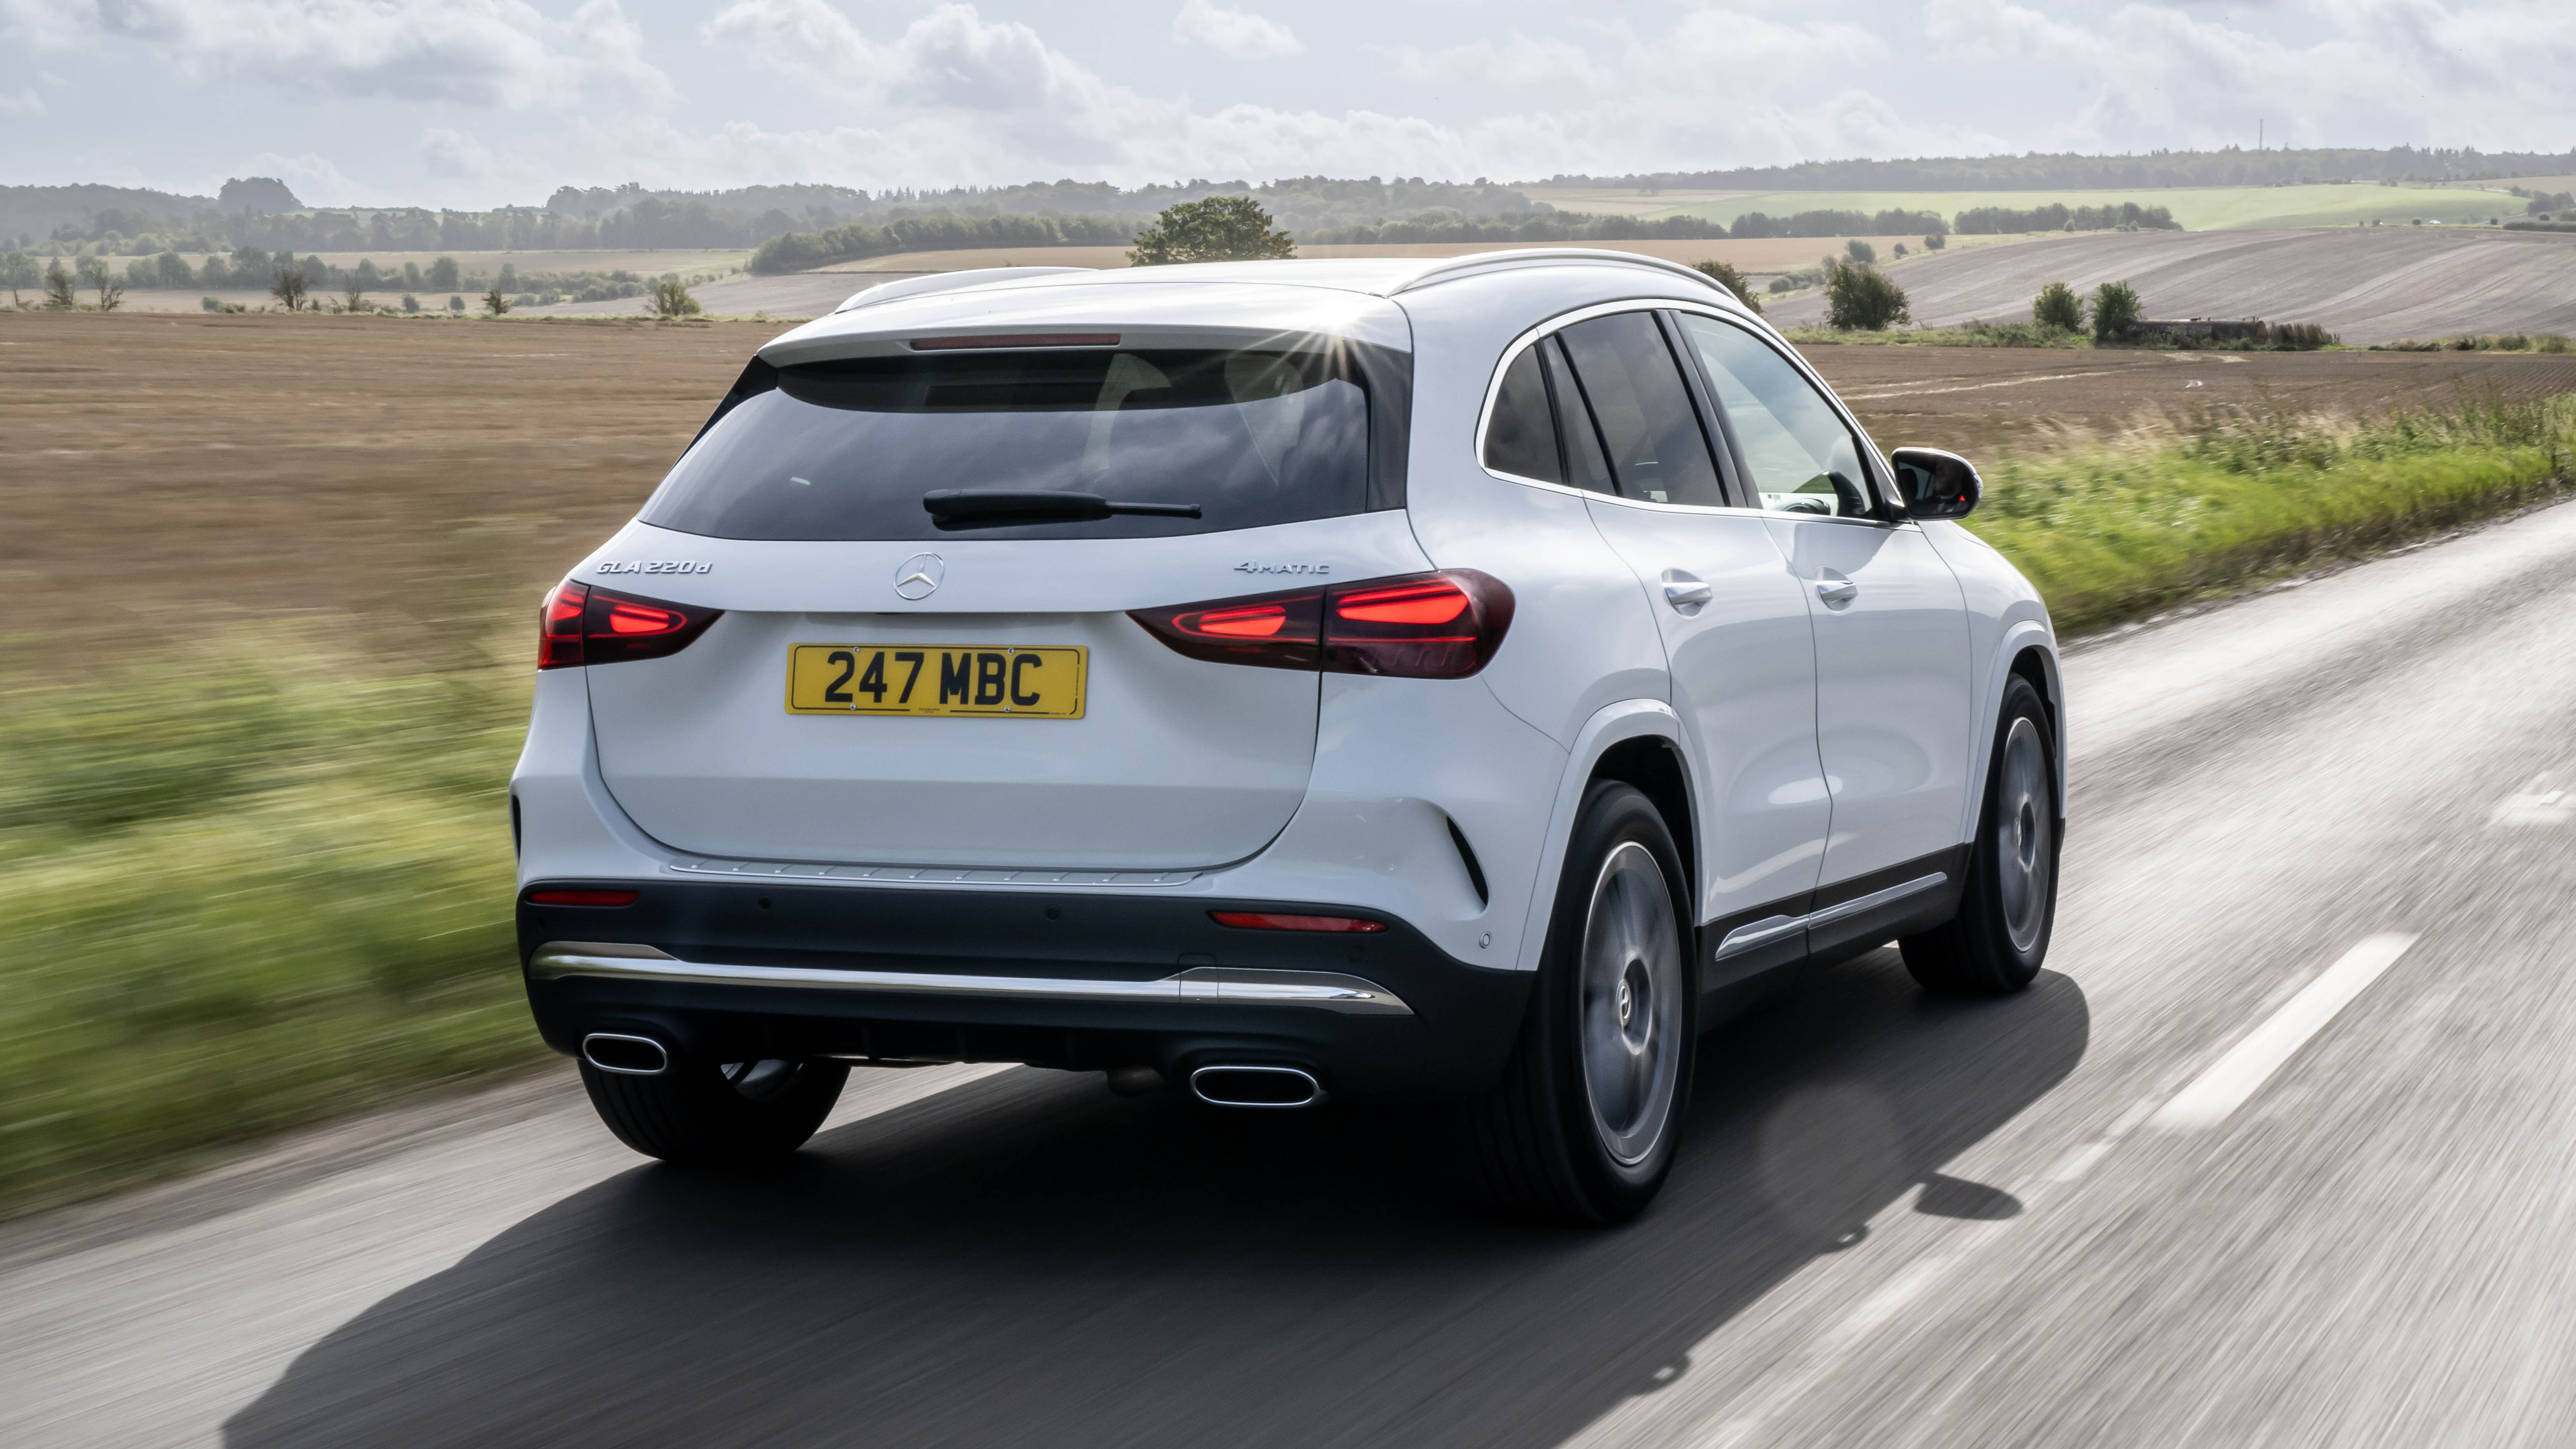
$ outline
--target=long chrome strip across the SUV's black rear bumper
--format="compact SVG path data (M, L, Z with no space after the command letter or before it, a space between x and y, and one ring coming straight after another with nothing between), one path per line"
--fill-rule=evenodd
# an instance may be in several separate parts
M683 962L626 941L546 941L528 957L536 980L605 977L690 985L765 985L801 990L868 990L1023 1000L1206 1000L1221 1006L1311 1006L1352 1016L1412 1016L1396 993L1340 972L1260 972L1190 967L1162 980L976 977L951 972L840 972L824 967L737 967Z

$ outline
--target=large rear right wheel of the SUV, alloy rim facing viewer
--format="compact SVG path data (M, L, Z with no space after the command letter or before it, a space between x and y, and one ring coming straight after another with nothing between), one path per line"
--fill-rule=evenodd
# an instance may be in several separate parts
M1584 792L1520 1044L1468 1104L1468 1155L1504 1214L1602 1227L1664 1186L1698 1055L1685 882L1636 786Z

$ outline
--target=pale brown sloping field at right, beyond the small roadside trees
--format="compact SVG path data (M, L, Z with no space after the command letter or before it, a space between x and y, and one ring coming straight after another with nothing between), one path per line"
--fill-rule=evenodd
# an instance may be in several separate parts
M2030 320L2030 299L2048 281L2076 291L2128 281L2148 317L2318 322L2347 343L2576 333L2576 235L2566 232L2097 232L1950 250L1909 266L1901 281L1924 327ZM1816 325L1824 297L1780 302L1772 320Z

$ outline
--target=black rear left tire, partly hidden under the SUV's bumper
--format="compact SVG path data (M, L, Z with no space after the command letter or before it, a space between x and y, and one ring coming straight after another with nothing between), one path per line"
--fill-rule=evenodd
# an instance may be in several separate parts
M672 1062L654 1078L582 1062L600 1122L647 1158L747 1168L804 1147L840 1101L840 1062Z

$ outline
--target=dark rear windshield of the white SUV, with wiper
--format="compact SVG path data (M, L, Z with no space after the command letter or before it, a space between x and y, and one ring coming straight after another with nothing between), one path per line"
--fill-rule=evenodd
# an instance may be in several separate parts
M1368 508L1368 387L1316 351L1007 351L755 364L644 505L716 539L1136 539ZM1193 503L943 529L940 487Z

